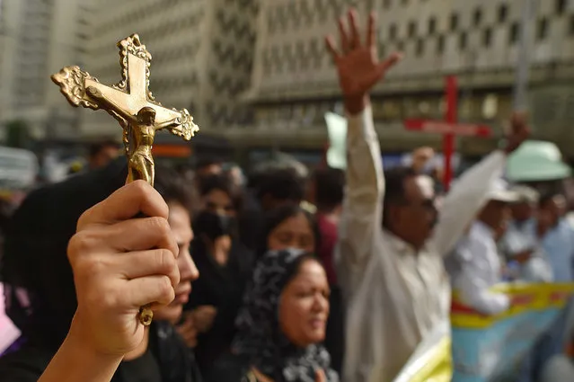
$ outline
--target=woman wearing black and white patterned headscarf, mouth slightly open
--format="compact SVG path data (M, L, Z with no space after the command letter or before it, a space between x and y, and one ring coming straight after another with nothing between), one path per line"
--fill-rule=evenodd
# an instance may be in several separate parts
M312 254L263 255L236 321L234 353L250 366L242 382L338 382L321 344L328 316L329 282Z

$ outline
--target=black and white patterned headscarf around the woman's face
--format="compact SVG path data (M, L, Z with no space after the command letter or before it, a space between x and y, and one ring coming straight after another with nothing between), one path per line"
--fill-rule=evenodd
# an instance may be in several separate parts
M276 382L315 382L322 369L328 382L339 377L330 368L329 353L320 344L302 349L289 342L278 321L283 289L310 254L298 250L271 251L257 262L237 316L234 351Z

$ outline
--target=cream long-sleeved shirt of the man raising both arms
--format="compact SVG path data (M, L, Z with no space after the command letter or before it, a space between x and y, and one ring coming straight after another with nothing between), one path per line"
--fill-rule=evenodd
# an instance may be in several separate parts
M448 320L443 254L485 202L505 155L464 173L447 195L435 234L416 253L382 229L384 174L372 111L349 118L347 188L337 260L347 302L345 382L389 382L436 324Z

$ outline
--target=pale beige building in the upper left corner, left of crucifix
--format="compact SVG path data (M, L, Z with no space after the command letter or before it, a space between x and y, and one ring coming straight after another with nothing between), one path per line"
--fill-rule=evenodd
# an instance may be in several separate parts
M75 138L77 112L49 79L82 64L83 0L0 3L0 124L25 120L34 138Z

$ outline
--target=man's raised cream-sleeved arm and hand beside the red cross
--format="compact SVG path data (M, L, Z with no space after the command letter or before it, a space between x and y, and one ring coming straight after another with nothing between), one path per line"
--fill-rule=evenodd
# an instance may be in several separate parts
M464 228L486 202L490 183L502 176L507 155L516 150L530 134L522 114L512 116L511 127L504 150L497 150L474 165L446 195L433 238L438 253L446 255L454 248L464 234Z

